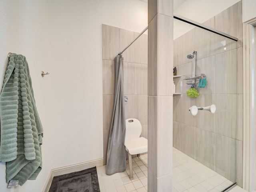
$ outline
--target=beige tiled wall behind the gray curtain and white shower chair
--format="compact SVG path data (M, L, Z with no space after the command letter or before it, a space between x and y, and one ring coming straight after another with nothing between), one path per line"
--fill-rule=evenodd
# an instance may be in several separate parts
M114 107L114 58L139 33L102 24L103 75L103 164ZM142 124L141 136L148 138L148 35L142 34L124 53L125 116Z

